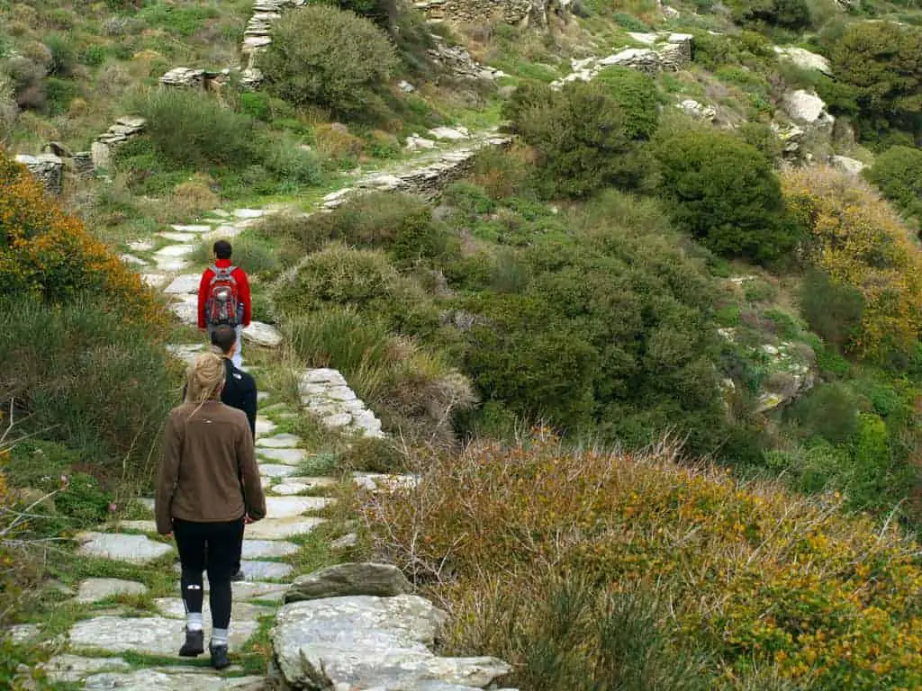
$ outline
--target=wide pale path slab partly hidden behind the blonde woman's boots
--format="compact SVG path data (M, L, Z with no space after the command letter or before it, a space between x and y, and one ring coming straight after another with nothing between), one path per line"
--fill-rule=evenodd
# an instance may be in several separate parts
M256 628L255 621L231 618L231 650L239 650ZM97 616L77 622L69 637L72 649L133 651L178 658L184 631L184 621L165 616Z

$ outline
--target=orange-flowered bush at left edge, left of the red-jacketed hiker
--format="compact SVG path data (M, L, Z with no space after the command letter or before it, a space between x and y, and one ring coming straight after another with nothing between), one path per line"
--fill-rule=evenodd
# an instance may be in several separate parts
M153 291L77 217L45 196L25 166L0 149L0 286L64 303L81 293L102 294L115 309L165 323Z

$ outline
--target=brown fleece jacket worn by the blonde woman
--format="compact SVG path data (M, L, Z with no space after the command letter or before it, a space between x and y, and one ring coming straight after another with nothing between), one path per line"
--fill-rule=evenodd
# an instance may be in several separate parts
M167 420L154 500L160 534L172 532L174 518L211 523L235 521L244 512L254 521L266 516L246 416L219 401L195 407L173 408Z

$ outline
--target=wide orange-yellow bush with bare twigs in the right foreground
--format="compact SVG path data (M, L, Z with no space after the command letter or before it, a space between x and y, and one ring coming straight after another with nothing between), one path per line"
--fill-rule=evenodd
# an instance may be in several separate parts
M416 489L364 511L385 555L458 615L462 652L500 652L472 643L469 608L491 584L534 591L550 569L603 591L645 583L669 603L675 645L706 648L715 678L755 666L798 688L922 686L918 545L837 496L741 486L666 452L572 451L543 433L426 463Z

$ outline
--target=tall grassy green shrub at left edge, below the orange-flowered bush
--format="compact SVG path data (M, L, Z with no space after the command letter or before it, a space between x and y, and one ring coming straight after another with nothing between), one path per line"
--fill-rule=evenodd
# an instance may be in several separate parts
M82 463L136 478L150 469L180 372L158 331L110 309L79 296L63 309L0 299L0 404L27 406L24 431L61 440Z

